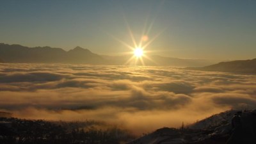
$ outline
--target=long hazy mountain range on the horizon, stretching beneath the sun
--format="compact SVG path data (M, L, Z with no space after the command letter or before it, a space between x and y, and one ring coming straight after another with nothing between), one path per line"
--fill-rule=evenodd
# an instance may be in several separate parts
M6 63L86 63L100 65L134 65L126 63L132 55L106 56L88 49L75 47L70 51L52 47L24 47L22 45L0 44L0 58ZM149 56L143 58L145 65L166 65L172 67L203 67L216 61ZM143 65L138 61L137 65Z

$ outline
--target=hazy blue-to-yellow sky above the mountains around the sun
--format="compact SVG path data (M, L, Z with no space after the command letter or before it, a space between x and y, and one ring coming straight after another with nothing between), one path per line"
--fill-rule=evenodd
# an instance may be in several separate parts
M179 58L248 59L256 53L254 0L1 0L0 41L29 47L77 45L99 54L130 51L127 24L152 54ZM152 27L150 27L152 26Z

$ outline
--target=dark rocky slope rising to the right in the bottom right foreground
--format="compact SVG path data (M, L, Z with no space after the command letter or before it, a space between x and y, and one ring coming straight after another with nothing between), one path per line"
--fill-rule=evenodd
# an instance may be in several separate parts
M225 111L195 124L179 129L164 127L146 134L127 144L223 144L230 138L232 118L235 110ZM256 109L243 111L240 116L241 135L236 135L243 143L254 144L256 141ZM234 130L233 130L234 131Z

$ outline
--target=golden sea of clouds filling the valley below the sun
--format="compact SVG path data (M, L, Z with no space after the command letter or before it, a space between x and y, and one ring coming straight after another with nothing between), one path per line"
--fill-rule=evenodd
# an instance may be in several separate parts
M172 67L0 65L0 111L20 118L100 120L141 134L253 108L254 75Z

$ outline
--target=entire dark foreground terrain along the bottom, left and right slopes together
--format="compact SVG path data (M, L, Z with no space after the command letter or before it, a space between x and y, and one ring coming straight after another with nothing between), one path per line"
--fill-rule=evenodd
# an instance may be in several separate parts
M116 127L95 129L95 125L104 125L100 122L47 122L2 117L0 143L224 144L234 132L231 122L235 113L235 110L225 111L179 129L164 127L135 140L129 132ZM243 111L241 124L241 135L236 137L243 143L255 144L256 110Z

